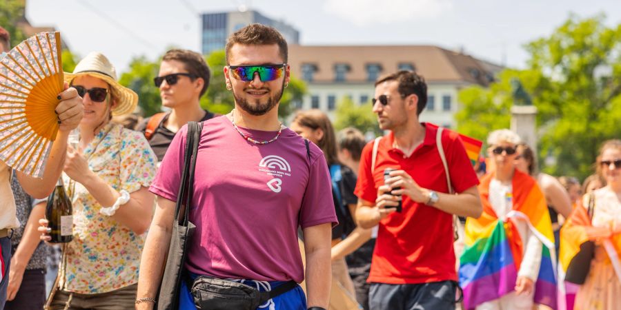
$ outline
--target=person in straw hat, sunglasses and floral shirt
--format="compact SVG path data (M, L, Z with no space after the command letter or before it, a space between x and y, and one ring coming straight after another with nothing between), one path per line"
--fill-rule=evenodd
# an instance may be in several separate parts
M98 52L65 79L83 97L77 147L68 147L64 183L73 204L73 240L66 243L50 309L131 309L154 197L148 186L157 158L140 132L110 122L138 102L117 82ZM47 220L39 220L42 240Z

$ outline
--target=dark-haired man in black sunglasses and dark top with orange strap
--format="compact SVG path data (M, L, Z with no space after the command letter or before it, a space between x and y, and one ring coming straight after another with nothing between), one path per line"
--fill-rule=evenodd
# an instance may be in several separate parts
M171 109L146 118L136 130L144 132L161 161L179 128L189 121L207 121L214 114L203 110L200 98L207 91L211 72L203 56L190 50L169 50L161 59L155 86L161 105Z

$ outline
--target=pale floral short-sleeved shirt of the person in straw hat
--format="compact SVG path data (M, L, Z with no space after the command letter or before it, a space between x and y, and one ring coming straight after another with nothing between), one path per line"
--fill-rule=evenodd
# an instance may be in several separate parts
M88 166L117 191L148 187L157 158L140 132L108 124L84 149ZM109 216L83 185L64 176L72 195L73 240L66 244L60 287L75 293L106 293L138 282L146 233L137 235ZM71 194L71 193L74 194ZM110 206L103 206L110 207ZM121 205L121 208L123 206Z

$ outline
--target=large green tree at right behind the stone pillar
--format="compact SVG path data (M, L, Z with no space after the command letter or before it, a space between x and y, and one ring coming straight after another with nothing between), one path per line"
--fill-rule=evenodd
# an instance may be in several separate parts
M515 77L538 108L539 157L555 158L555 165L544 171L580 177L593 173L602 141L621 136L621 25L607 27L604 20L603 15L572 15L551 36L526 44L530 56L525 70L506 70L489 90L462 90L457 130L483 138L490 130L508 127L508 83Z

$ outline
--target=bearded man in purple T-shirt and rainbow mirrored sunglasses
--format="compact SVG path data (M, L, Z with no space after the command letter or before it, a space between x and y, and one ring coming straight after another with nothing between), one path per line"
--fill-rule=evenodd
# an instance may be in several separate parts
M228 39L224 76L235 110L204 122L201 132L190 209L196 229L179 309L212 309L210 302L225 305L217 309L239 309L227 307L231 300L193 294L206 289L206 282L217 290L242 282L270 291L261 309L304 310L307 299L297 285L304 278L308 309L328 307L331 227L337 222L331 180L319 147L278 121L289 81L286 51L282 36L264 25L248 25ZM183 127L173 139L150 188L157 208L140 267L137 309L152 309L163 273L186 133ZM306 277L298 227L304 233ZM226 285L213 283L223 280Z

